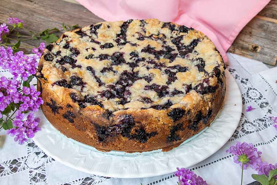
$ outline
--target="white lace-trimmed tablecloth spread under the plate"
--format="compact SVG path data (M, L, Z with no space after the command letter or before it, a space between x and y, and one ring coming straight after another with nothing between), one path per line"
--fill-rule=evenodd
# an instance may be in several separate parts
M241 170L233 156L225 151L237 141L252 142L262 151L262 159L277 163L277 130L271 116L277 116L277 68L267 68L261 62L228 54L227 70L239 84L243 99L243 113L238 128L230 140L215 154L191 167L211 185L239 184ZM0 76L8 73L0 71ZM246 112L247 106L253 108ZM116 179L91 175L62 165L47 156L29 140L18 145L13 138L0 132L1 185L153 185L177 184L173 173L142 179ZM55 147L53 146L53 150ZM253 182L252 169L244 171L244 184Z

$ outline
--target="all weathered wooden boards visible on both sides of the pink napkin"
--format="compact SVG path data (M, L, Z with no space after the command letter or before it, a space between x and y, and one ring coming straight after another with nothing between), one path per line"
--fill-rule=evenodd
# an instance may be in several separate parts
M69 2L66 2L69 1ZM46 28L62 28L62 23L79 24L81 27L103 21L74 0L1 0L0 23L8 17L25 21L26 28L42 31ZM21 30L20 34L27 32ZM61 34L61 33L60 33ZM12 38L15 38L12 35ZM22 42L21 49L30 53L28 47L37 47L40 41ZM277 61L277 0L271 2L255 16L239 33L228 50L231 53L276 65Z

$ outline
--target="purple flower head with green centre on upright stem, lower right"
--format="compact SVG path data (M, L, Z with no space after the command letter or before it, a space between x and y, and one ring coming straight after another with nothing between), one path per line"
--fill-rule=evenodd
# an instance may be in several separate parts
M234 162L238 163L240 167L242 167L243 164L243 169L246 169L248 166L256 169L258 163L262 162L260 156L262 152L254 148L252 143L237 142L235 146L231 146L226 152L235 155Z

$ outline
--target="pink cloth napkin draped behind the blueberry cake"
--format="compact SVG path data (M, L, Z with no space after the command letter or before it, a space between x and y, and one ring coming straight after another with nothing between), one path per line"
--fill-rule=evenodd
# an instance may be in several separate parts
M239 31L270 0L77 0L106 21L156 18L208 35L227 61Z

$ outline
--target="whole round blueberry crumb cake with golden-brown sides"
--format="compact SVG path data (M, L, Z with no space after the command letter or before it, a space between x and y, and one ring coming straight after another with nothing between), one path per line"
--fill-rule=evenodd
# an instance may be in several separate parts
M62 134L101 151L171 150L209 126L225 66L202 32L157 19L62 34L39 62L42 111Z

